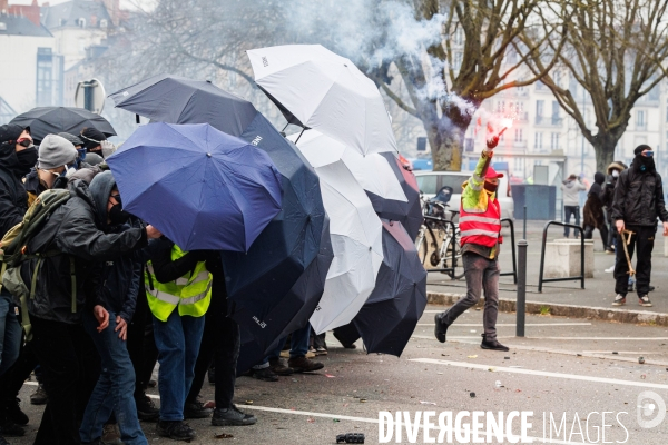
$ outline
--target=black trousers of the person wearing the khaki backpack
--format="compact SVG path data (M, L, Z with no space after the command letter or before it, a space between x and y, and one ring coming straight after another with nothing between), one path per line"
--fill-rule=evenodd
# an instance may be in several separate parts
M30 317L32 350L49 395L35 445L80 444L79 426L100 374L100 359L81 325Z

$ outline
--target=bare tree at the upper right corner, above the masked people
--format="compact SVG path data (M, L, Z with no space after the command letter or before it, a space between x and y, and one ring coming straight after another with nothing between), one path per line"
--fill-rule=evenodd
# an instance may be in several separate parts
M631 109L667 75L668 1L558 0L547 6L541 16L546 29L554 17L573 18L567 46L559 51L559 66L589 97L596 131L588 127L582 103L571 89L549 75L542 81L593 146L597 169L605 171L627 129ZM529 36L523 40L532 41ZM544 71L540 57L528 65L534 73Z

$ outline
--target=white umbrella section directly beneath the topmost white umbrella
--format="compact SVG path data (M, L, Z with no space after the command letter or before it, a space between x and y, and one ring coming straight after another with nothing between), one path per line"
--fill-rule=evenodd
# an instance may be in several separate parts
M313 167L342 160L364 190L384 199L407 202L406 194L384 156L379 154L362 156L345 144L316 130L306 130L301 137L288 136L293 142L297 138L299 139L297 147Z

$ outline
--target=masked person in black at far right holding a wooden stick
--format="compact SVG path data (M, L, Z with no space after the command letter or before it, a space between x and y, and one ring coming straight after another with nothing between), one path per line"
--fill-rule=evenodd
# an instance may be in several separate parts
M636 157L631 167L619 175L612 202L612 219L617 231L632 231L631 241L627 245L629 258L638 249L636 261L636 283L640 306L650 307L649 280L651 276L651 250L654 249L657 231L657 218L664 221L664 236L668 235L668 211L664 202L664 186L661 176L656 171L654 151L649 146L641 145L633 150ZM628 238L629 234L625 234ZM615 297L613 306L626 304L628 291L629 265L623 253L622 238L617 238L615 263Z

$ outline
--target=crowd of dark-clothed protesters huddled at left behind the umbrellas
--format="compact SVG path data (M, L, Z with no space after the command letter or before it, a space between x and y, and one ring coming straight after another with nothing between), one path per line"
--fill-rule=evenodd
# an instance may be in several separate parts
M0 445L24 434L18 395L32 373L30 400L46 404L36 445L147 444L139 421L177 441L196 436L187 418L257 422L233 403L240 334L219 253L183 251L126 212L105 162L114 149L95 128L33 141L29 127L0 127ZM304 326L287 363L284 338L247 375L323 368L314 337ZM159 408L146 394L156 363ZM214 407L199 398L207 373Z

